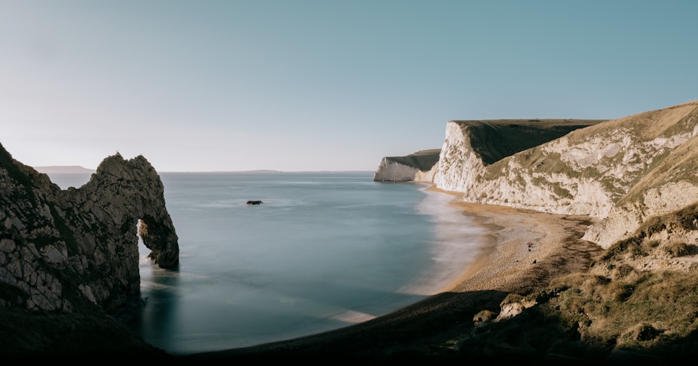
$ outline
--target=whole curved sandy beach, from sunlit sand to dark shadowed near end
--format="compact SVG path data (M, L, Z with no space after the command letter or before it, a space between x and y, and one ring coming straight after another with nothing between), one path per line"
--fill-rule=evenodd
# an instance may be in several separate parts
M430 188L437 190L436 188ZM443 192L443 191L440 191ZM582 241L588 216L555 215L506 206L470 204L454 195L452 204L486 230L477 259L443 291L401 310L354 326L294 340L243 349L181 356L184 360L297 358L325 363L415 360L448 354L473 329L482 310L499 312L509 293L526 295L551 278L586 270L602 248Z

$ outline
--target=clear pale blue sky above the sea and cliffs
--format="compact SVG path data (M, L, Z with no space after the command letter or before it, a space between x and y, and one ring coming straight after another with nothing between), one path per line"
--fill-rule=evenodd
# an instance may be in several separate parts
M698 99L698 1L0 0L0 143L27 165L368 170L454 119Z

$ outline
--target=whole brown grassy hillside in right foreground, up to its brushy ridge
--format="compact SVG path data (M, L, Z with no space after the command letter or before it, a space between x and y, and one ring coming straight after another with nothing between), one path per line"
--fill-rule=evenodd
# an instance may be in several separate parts
M661 356L667 363L695 356L698 267L639 271L626 261L657 251L671 257L692 255L693 246L685 241L648 237L672 228L695 230L696 222L696 206L647 220L594 264L607 275L580 272L554 278L547 289L528 296L537 305L481 327L462 342L461 350L473 357L556 353L600 361L614 349L625 349Z

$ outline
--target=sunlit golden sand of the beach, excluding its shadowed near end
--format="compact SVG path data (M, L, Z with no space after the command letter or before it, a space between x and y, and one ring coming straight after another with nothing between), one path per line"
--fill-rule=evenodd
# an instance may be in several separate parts
M459 192L430 189L461 196ZM586 228L595 222L587 215L543 213L457 198L452 204L485 232L473 264L442 292L496 289L526 294L533 291L533 278L549 282L558 275L586 270L602 252L600 246L581 240ZM581 260L575 259L576 255ZM532 271L539 273L533 276Z

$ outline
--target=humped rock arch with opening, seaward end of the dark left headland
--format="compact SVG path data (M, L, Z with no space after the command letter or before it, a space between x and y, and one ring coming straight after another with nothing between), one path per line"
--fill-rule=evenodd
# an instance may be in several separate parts
M61 192L64 206L77 214L70 222L83 234L76 238L78 247L96 254L92 268L114 274L97 281L99 288L110 290L99 296L107 303L114 296L118 303L140 293L137 234L158 266L179 264L178 238L164 192L160 176L142 155L124 160L119 153L105 158L82 187ZM92 236L102 245L93 249Z

